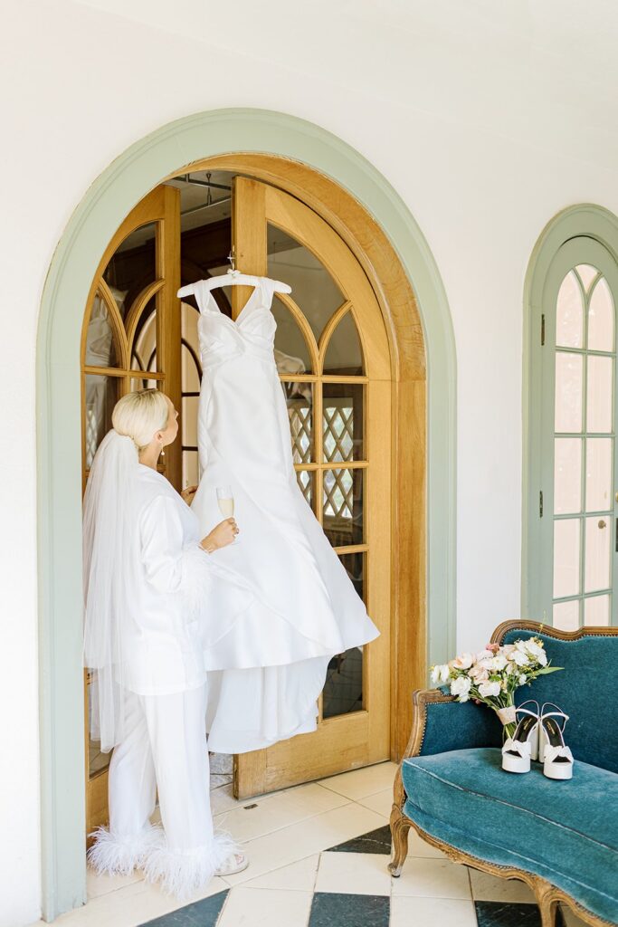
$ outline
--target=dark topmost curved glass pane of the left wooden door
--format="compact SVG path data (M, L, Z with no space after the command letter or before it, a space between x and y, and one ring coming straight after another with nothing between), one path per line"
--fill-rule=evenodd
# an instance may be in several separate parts
M120 291L120 315L126 320L135 299L157 279L157 222L140 225L128 235L107 264L103 278Z

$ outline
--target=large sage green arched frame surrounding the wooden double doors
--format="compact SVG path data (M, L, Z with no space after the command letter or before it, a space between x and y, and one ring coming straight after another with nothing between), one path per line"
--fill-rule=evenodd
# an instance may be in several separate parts
M95 181L58 244L37 335L37 490L44 918L85 901L82 737L80 335L95 267L120 222L162 178L228 152L295 159L370 212L407 274L427 353L427 614L430 662L455 645L456 357L448 301L410 211L372 165L319 126L284 113L220 109L171 122Z

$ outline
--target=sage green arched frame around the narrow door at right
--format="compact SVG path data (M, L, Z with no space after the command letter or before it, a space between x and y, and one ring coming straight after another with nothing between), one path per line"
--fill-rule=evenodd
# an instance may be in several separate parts
M523 295L523 493L522 493L522 616L551 623L548 610L548 552L544 550L539 492L553 487L553 474L546 472L541 452L543 435L541 345L542 315L546 318L555 306L549 305L552 287L552 264L560 249L574 238L599 242L618 265L618 217L610 210L592 203L581 203L562 210L548 222L536 241L525 277ZM585 261L584 261L585 262ZM555 296L555 294L554 294ZM546 346L550 347L550 346ZM544 401L553 401L545 397ZM546 419L548 412L546 410ZM551 416L549 416L550 418ZM548 419L549 420L549 419ZM548 499L547 492L544 493ZM546 509L548 506L545 506ZM546 566L543 566L543 565Z

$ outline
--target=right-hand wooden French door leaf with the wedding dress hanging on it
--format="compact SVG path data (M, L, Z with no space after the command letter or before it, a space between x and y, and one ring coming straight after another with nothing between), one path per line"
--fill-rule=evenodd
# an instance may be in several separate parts
M318 730L234 757L246 797L389 756L391 365L359 261L298 199L235 177L233 251L239 270L292 286L272 311L298 482L381 631L331 661ZM233 287L233 318L249 293Z

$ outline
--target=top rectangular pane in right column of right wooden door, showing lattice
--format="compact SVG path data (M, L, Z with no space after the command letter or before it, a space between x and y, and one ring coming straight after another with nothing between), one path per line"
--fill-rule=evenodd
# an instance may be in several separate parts
M363 396L362 386L323 385L322 443L326 462L363 459Z

